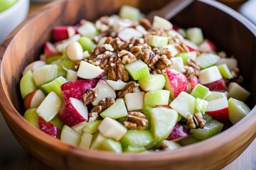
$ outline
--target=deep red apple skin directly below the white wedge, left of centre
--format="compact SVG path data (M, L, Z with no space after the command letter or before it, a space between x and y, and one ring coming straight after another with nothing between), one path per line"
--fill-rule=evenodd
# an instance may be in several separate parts
M97 79L79 79L76 81L68 81L61 85L60 89L63 94L64 101L67 101L70 97L80 100L87 89L95 88L97 81Z

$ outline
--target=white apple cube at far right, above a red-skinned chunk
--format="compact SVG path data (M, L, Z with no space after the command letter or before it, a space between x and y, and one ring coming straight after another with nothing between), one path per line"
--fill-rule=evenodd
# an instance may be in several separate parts
M218 81L222 79L220 71L217 66L208 67L206 69L202 69L198 75L199 82L201 84L210 84L214 81ZM209 88L210 89L210 88Z

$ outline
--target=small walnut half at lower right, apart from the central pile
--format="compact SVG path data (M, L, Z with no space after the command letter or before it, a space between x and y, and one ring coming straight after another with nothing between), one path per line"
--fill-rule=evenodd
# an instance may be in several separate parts
M203 119L203 115L200 112L194 113L193 115L189 114L187 125L191 129L203 129L206 125L206 120Z

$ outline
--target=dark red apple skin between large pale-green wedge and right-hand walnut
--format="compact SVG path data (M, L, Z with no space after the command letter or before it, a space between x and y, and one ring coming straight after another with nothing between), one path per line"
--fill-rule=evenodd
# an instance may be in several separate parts
M184 137L188 137L189 132L182 125L176 123L174 126L174 130L171 131L171 134L166 137L166 140L172 140L174 142L178 142L178 140L182 140Z

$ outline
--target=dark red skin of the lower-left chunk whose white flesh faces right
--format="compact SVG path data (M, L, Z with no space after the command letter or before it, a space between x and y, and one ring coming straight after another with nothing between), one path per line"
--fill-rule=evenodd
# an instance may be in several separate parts
M71 98L69 98L68 101L65 101L63 106L61 106L58 118L63 124L68 125L69 127L73 127L74 125L78 125L79 123L88 120L87 115L80 115L77 108L73 105Z

